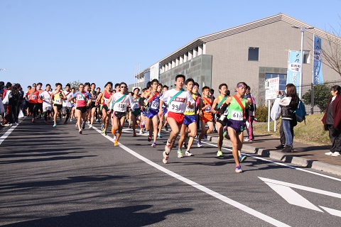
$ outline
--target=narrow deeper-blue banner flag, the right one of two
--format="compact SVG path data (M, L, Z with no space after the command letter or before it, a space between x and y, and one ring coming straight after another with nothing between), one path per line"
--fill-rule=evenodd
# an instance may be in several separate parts
M322 61L321 61L321 38L314 35L314 65L313 65L313 84L322 84Z

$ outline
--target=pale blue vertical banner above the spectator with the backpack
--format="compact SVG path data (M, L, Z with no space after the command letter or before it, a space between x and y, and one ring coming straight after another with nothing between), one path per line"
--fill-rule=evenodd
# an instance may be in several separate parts
M294 84L298 92L301 77L301 52L289 50L286 84Z

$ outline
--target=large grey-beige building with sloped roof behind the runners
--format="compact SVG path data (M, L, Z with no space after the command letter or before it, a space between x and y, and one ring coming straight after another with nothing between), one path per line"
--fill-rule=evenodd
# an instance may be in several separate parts
M184 74L186 78L192 77L200 87L215 89L216 96L221 83L226 83L233 94L237 82L246 82L258 104L265 104L265 79L279 76L281 86L285 87L288 51L301 50L301 31L292 26L313 27L278 13L202 36L157 62L158 79L162 84L173 87L175 76ZM314 34L322 38L322 45L328 43L328 33L325 31L319 28L305 31L303 84L309 84L313 80ZM147 82L145 80L153 79L149 77L149 73L147 69L136 74L139 87L144 87ZM340 79L339 74L324 64L323 77L325 81Z

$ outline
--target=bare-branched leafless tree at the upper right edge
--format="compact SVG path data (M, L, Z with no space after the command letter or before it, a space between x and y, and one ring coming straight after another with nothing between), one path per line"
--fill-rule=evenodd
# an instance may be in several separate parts
M322 62L341 76L341 32L330 26L330 32L326 31L325 35L327 44L321 48Z

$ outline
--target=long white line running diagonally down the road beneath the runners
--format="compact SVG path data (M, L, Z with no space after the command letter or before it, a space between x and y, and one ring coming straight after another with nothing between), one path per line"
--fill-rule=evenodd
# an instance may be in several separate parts
M102 131L100 131L98 128L96 127L92 127L92 128L94 128L94 130L96 130L98 133L102 133ZM114 139L111 138L109 135L106 135L105 137L114 143ZM167 170L165 167L162 167L161 165L158 165L155 162L148 160L146 157L139 155L139 153L136 153L134 150L127 148L125 145L122 145L121 143L119 143L119 147L126 150L126 152L130 153L131 155L134 155L140 160L146 162L148 165L151 165L152 167L155 167L156 169L170 175L171 177L174 177L175 179L179 179L180 181L185 182L186 184L189 184L190 186L195 187L196 189L199 189L200 191L205 192L206 194L209 194L210 196L214 196L215 198L220 199L221 201L224 201L225 203L230 204L236 207L237 209L241 209L242 211L247 212L248 214L251 214L255 216L256 218L260 218L261 220L271 223L274 226L288 226L286 223L278 221L275 218L271 218L271 216L262 214L259 211L251 209L249 206L240 204L239 202L234 201L233 199L229 199L227 196L223 196L222 194L212 191L211 189L208 189L207 187L204 187L201 184L197 184L196 182L193 182L190 179L187 179L181 175L178 175L175 172L172 172L171 170Z

